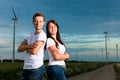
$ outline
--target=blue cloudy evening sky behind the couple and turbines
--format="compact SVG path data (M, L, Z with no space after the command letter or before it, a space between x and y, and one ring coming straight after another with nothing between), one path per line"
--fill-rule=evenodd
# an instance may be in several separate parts
M12 59L13 7L18 18L15 26L15 59L24 59L25 52L18 53L17 47L27 34L34 31L33 14L42 12L46 23L50 19L58 22L70 60L105 61L104 32L108 32L108 60L120 61L119 4L120 0L0 0L0 59ZM43 30L46 31L46 24Z

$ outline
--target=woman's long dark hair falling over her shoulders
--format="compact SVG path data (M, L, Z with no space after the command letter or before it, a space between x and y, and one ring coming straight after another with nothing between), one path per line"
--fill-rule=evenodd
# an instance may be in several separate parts
M56 38L57 38L57 40L58 40L61 44L64 45L64 43L63 43L62 40L60 39L59 26L58 26L58 24L57 24L57 22L56 22L55 20L49 20L49 21L47 22L47 25L46 25L47 38L52 38L52 39L55 41L55 39L51 36L51 34L50 34L49 30L48 30L48 26L49 26L50 23L53 23L53 24L55 24L55 25L57 26ZM58 43L57 43L56 41L55 41L55 44L56 44L56 47L58 48ZM64 46L65 46L65 45L64 45Z

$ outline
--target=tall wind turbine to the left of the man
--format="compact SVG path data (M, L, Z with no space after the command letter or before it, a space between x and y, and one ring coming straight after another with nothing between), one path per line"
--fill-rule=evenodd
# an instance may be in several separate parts
M14 8L12 7L12 12L13 12L13 18L12 20L14 21L14 28L13 28L13 57L12 57L12 62L14 62L15 59L15 26L16 26L16 21L18 20L16 13L14 11Z

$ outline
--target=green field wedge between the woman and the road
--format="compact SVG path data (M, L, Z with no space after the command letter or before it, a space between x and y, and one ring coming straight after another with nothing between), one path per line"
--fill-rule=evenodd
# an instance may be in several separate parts
M73 75L89 72L98 67L105 65L105 63L97 63L97 62L68 62L67 68L65 69L66 77L70 77Z

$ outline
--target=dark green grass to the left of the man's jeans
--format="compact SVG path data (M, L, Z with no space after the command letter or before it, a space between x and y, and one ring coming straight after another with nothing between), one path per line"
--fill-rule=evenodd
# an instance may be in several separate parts
M22 62L0 63L0 80L19 80L22 71Z

